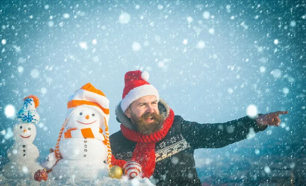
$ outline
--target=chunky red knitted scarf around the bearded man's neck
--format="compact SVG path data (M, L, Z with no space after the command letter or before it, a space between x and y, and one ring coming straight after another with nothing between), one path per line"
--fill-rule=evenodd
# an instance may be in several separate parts
M163 128L150 135L143 135L136 130L129 129L123 124L120 125L123 136L133 142L137 142L131 161L137 161L142 167L141 177L149 178L155 170L155 144L163 140L169 129L171 128L174 120L174 112L170 109L169 116L163 123ZM116 160L112 156L112 165L120 166L121 168L126 163L124 160Z

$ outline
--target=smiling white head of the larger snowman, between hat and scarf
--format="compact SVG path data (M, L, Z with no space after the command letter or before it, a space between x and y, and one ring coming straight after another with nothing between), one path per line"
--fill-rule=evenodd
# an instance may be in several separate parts
M102 127L104 118L101 111L95 106L82 105L75 108L68 117L67 126L69 128L89 128Z

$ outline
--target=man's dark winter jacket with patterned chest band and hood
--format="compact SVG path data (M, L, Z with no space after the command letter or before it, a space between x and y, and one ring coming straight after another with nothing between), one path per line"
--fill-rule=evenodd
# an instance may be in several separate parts
M169 107L163 100L159 101L159 110L164 118L168 117ZM175 113L175 111L174 111ZM126 127L133 125L120 108L116 108L117 120ZM226 123L199 124L174 116L172 127L166 137L156 143L156 166L150 178L156 185L201 185L193 153L198 148L220 148L246 138L253 128L254 132L266 129L259 128L254 119L243 117ZM252 129L251 129L252 130ZM129 161L136 142L127 140L121 130L110 136L112 153L116 159Z

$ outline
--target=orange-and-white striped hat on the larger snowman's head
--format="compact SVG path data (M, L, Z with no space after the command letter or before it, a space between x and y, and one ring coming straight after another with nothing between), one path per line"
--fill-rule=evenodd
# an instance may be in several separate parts
M87 83L68 98L66 118L75 108L81 105L90 105L98 107L108 123L110 118L109 103L110 101L102 91L96 89L91 83Z

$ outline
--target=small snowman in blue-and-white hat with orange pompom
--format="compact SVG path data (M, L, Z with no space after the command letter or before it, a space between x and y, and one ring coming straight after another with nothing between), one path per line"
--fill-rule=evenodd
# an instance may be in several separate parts
M23 108L17 113L19 121L13 129L14 144L8 149L7 156L10 160L2 170L6 178L34 179L34 173L42 167L36 162L39 151L33 144L36 137L36 127L40 120L36 108L39 100L36 96L25 97Z

